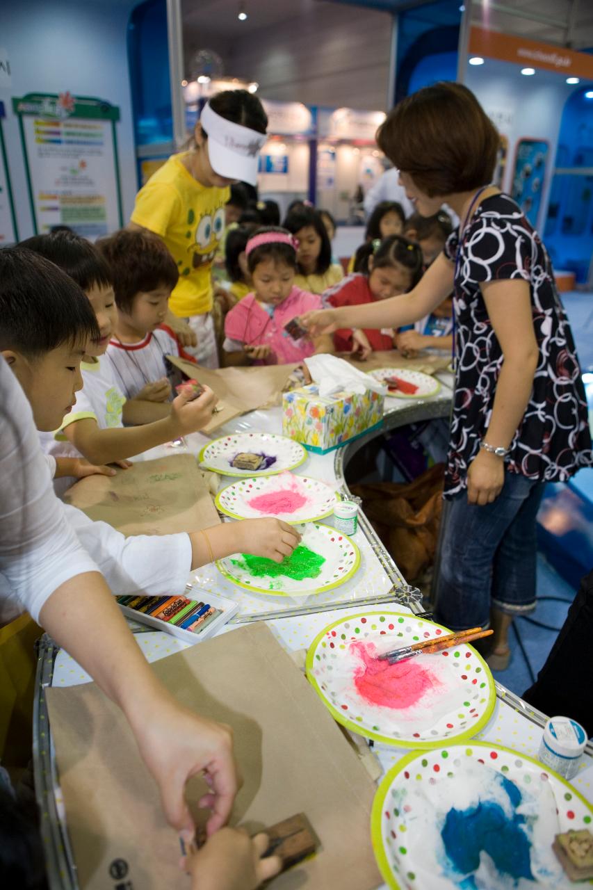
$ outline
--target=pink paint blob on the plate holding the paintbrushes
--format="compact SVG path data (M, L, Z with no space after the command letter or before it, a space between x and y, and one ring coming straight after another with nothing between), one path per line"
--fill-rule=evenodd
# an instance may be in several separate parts
M352 643L350 651L362 664L354 671L354 685L365 701L382 708L411 708L435 686L441 685L417 659L390 665L379 661L374 643ZM420 656L422 658L422 656Z

